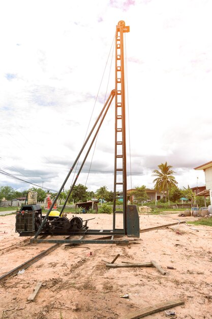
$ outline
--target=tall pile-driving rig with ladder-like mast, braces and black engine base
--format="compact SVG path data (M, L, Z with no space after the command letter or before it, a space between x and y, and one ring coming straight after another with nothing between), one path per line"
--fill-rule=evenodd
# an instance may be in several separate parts
M34 236L31 239L32 243L128 243L129 240L118 240L117 237L128 236L128 237L139 237L139 216L136 205L127 205L127 169L126 169L126 119L125 119L125 66L124 66L124 33L130 32L130 27L125 25L125 21L119 21L116 25L115 33L115 89L111 91L102 111L100 112L92 130L89 132L78 156L75 159L64 183L58 191L55 199L52 201L51 207L49 208L45 217L41 215L40 225L35 223L36 211L27 211L27 214L20 216L23 219L23 230L21 227L17 228L20 236ZM114 198L113 198L113 228L112 229L88 229L88 220L83 221L80 217L72 217L70 220L67 217L63 217L64 208L68 202L71 192L76 184L77 178L82 170L82 167L86 161L87 155L94 144L98 135L99 129L102 122L107 114L107 111L111 105L113 98L115 97L115 154L114 154ZM92 138L93 135L93 138ZM60 211L58 217L50 220L49 214L53 209L59 194L63 191L63 188L72 173L75 165L78 162L82 151L87 145L88 141L90 145L86 152L86 155L79 168L77 176L72 183L72 187L65 200L64 206ZM116 200L119 193L123 194L123 206L122 211L117 209ZM18 213L17 213L18 214ZM21 214L21 212L19 212ZM116 217L117 214L122 215L122 226L117 228ZM17 216L16 216L17 218ZM25 221L24 221L25 220ZM38 237L42 235L42 238ZM48 235L73 235L74 239L47 239L44 238ZM87 235L104 236L101 238L86 239ZM78 238L76 238L78 236Z

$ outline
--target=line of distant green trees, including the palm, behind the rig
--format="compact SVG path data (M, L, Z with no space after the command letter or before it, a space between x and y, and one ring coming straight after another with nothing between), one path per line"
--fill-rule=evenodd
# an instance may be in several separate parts
M179 189L177 187L177 181L173 176L175 172L172 170L172 166L168 165L167 162L164 164L161 163L158 165L158 169L153 171L153 176L155 179L154 188L155 190L161 192L163 194L163 198L157 201L157 208L170 209L173 208L176 204L181 204L180 198L186 197L191 206L198 205L199 207L205 206L203 196L196 196L196 194L190 189L189 185L187 188ZM51 194L51 199L53 200L57 193L52 193L49 191L45 191L42 188L31 188L25 190L23 192L19 192L14 190L10 186L0 187L0 201L3 198L6 200L12 200L15 198L26 197L28 191L36 191L38 193L37 200L40 202L44 201L47 197L47 194ZM67 204L77 203L77 202L85 202L87 200L91 200L93 198L98 199L101 203L107 202L108 204L113 204L114 194L112 191L109 191L106 185L100 187L96 192L88 191L87 187L82 184L75 185L72 193L69 194L70 190L64 190L60 193L58 199L60 203L64 203L68 198ZM120 195L120 194L119 194ZM137 186L131 193L131 197L133 195L133 202L131 204L136 205L148 205L152 209L156 208L155 200L152 202L147 202L147 190L145 185ZM116 204L122 205L122 202L118 202L116 200ZM209 198L206 200L206 205L209 205Z

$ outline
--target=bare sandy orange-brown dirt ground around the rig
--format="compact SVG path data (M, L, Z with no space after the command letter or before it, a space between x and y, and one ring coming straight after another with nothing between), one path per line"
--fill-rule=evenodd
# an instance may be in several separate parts
M80 215L79 215L80 216ZM71 215L69 216L71 218ZM85 215L81 216L85 219ZM112 215L93 218L90 229L111 229ZM140 215L140 229L196 220L177 214ZM0 284L2 318L116 319L159 302L180 299L174 310L178 319L212 318L212 231L208 226L180 224L141 233L137 245L62 245L49 255ZM29 244L29 237L15 233L15 215L0 217L0 276L37 255L51 244ZM91 254L90 254L91 253ZM102 259L149 262L156 268L106 268ZM167 269L171 266L174 269ZM34 302L27 302L36 284L42 287ZM128 294L129 298L121 298ZM146 318L167 318L164 311Z

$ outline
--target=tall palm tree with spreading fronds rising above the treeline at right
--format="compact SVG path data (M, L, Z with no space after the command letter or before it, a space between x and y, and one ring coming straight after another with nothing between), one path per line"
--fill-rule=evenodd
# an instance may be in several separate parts
M167 192L168 195L168 202L169 202L169 189L172 186L177 185L177 181L175 180L175 177L172 175L175 173L171 168L171 165L167 165L167 162L165 164L158 165L160 170L154 170L153 176L157 176L157 178L154 179L155 183L155 189L158 189L160 192Z

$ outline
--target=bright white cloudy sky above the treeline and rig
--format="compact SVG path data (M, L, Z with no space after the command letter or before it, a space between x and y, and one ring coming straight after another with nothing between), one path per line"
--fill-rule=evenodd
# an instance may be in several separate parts
M195 187L197 180L204 185L204 173L194 168L212 160L211 12L211 0L2 0L0 169L59 190L82 147L116 24L124 20L130 26L128 189L153 188L152 172L166 161L180 188ZM107 94L115 87L111 57L92 123L104 104L109 71ZM77 181L87 179L88 191L113 190L113 111L114 105L88 179L93 151ZM0 174L4 185L32 187Z

